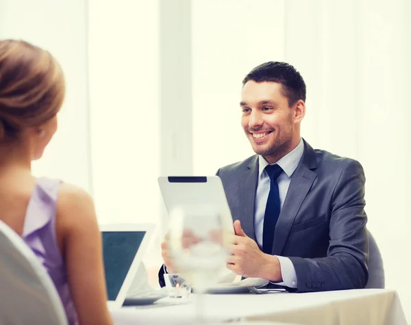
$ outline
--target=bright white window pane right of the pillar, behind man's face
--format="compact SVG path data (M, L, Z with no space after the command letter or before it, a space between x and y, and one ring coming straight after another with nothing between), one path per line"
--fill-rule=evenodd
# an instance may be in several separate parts
M283 0L192 1L194 174L253 154L240 127L241 81L269 60L284 60Z

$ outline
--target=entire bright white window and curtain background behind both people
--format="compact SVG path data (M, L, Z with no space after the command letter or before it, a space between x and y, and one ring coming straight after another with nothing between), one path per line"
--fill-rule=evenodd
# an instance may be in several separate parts
M358 159L366 212L411 320L411 1L1 0L0 38L44 47L64 69L60 127L34 173L88 190L99 222L167 229L157 177L214 174L252 155L242 78L285 61L307 84L302 135Z

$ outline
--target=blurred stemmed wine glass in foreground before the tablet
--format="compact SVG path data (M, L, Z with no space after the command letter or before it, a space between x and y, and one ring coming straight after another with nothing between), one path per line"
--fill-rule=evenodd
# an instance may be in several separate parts
M219 273L225 268L232 224L224 218L212 206L182 206L170 213L170 253L177 273L191 284L194 291L195 324L206 324L203 294L218 281Z

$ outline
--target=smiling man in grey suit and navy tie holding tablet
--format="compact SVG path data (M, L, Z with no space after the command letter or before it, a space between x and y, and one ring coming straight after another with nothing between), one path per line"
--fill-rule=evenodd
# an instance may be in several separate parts
M266 62L242 85L242 127L256 155L217 172L236 220L227 268L289 291L363 288L369 248L362 166L301 138L306 84L294 67ZM162 255L172 268L166 242Z

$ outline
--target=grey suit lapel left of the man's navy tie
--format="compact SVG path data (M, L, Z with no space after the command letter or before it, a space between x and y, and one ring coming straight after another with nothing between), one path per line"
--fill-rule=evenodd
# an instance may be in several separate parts
M247 170L242 174L238 192L240 207L238 216L242 230L254 240L256 240L256 234L254 233L254 205L256 203L257 178L258 155L251 160Z

